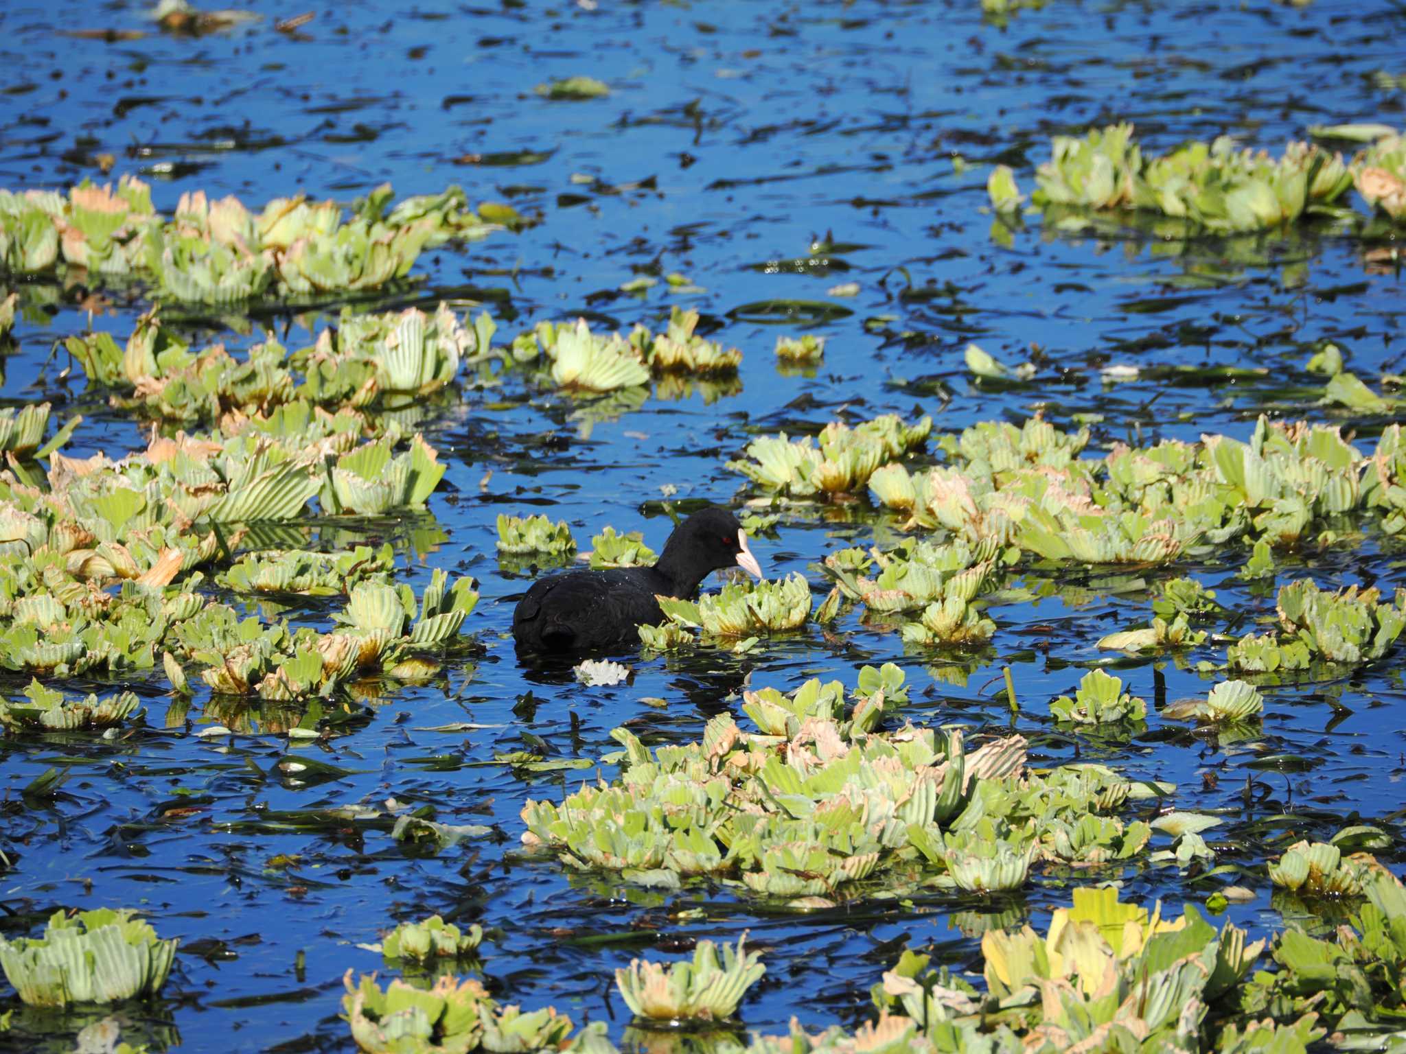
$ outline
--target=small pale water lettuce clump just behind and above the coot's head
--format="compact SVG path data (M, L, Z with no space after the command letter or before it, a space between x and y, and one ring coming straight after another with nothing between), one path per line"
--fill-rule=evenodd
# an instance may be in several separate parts
M727 467L793 497L849 493L863 489L880 465L921 447L931 430L931 417L904 424L897 415L886 415L855 427L831 422L814 440L790 440L786 433L754 438L747 447L749 460Z

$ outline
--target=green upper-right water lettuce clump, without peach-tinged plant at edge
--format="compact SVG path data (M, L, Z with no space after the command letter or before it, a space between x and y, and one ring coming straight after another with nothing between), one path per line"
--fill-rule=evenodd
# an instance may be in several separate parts
M1147 209L1230 233L1292 223L1353 186L1341 155L1310 143L1291 142L1271 157L1219 136L1147 157L1132 136L1129 124L1054 136L1050 160L1035 171L1035 205L1056 223L1063 222L1060 207Z

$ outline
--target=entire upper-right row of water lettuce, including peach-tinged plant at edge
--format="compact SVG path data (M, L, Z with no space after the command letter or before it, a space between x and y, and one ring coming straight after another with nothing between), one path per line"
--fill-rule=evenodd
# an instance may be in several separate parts
M1385 135L1344 162L1313 143L1291 142L1274 157L1219 136L1147 157L1130 124L1108 125L1084 136L1054 136L1050 160L1035 171L1031 201L1047 223L1067 229L1085 225L1085 209L1125 209L1233 233L1294 223L1305 215L1341 216L1347 209L1337 202L1355 186L1369 207L1396 221L1406 215L1402 143L1399 135ZM1004 166L991 173L987 190L1002 215L1024 201Z

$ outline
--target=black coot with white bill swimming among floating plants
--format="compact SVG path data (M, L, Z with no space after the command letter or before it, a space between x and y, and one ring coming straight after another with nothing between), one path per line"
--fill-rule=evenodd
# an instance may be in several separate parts
M567 571L533 583L513 611L513 639L529 655L568 655L637 644L636 627L659 623L655 594L689 599L709 573L762 566L727 509L711 506L673 528L652 568Z

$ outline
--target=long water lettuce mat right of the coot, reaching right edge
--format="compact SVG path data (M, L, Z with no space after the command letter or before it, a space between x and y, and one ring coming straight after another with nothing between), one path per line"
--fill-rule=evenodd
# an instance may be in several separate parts
M1331 544L1334 517L1399 516L1406 458L1396 424L1371 457L1336 427L1267 417L1247 443L1206 436L1078 457L1087 444L1087 430L1060 431L1038 416L1022 427L983 422L942 437L948 464L884 465L869 489L908 528L1081 564L1167 564L1237 540Z

